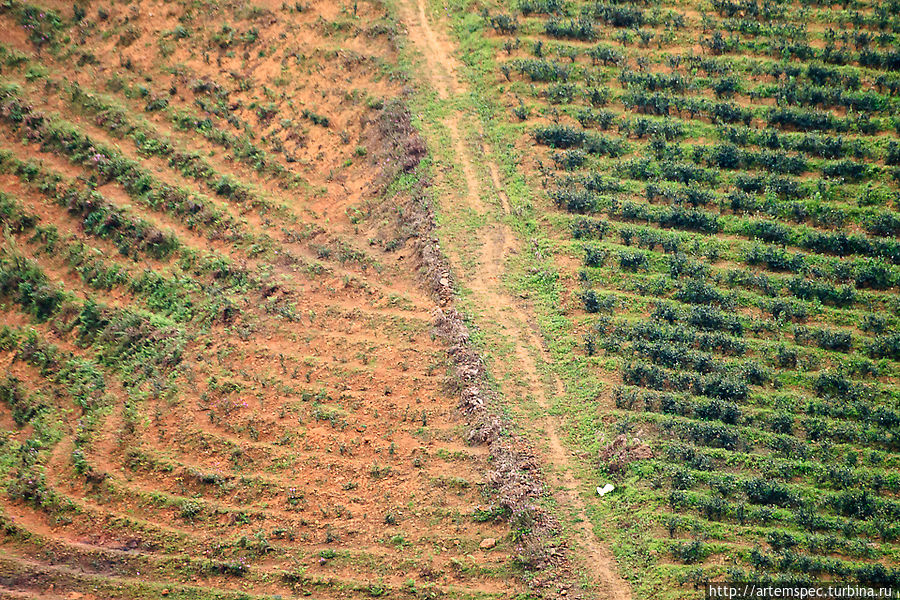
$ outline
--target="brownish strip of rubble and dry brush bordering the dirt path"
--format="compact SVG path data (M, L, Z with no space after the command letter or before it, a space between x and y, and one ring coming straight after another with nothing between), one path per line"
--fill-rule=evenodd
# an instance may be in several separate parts
M412 172L425 156L424 140L413 127L409 110L399 101L386 105L376 121L381 145L379 163L387 183ZM469 443L486 445L491 469L487 483L493 492L492 510L528 535L519 540L517 559L536 575L529 585L536 591L566 593L574 575L556 517L538 505L544 494L540 464L528 444L512 431L496 407L484 361L473 347L463 315L453 307L453 275L435 235L429 182L420 179L409 197L393 211L397 228L411 242L419 277L439 307L433 312L433 332L447 345L452 364L449 385L459 394L459 409L470 426ZM577 596L573 596L577 597Z

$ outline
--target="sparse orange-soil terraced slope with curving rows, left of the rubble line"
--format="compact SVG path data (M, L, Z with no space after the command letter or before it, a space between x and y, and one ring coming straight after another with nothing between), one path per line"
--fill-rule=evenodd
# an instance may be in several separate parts
M11 0L0 31L0 595L518 593L387 9Z

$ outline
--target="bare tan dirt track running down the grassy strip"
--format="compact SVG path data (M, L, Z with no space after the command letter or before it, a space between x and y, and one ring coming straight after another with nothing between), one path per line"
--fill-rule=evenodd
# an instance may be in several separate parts
M413 1L415 6L412 6ZM454 47L438 35L429 23L426 0L402 0L400 7L410 40L425 59L426 75L437 91L438 97L441 100L451 100L466 94L465 85L456 77L458 68L453 56ZM475 175L475 165L481 164L487 167L490 175L492 189L487 191L497 196L502 209L501 215L494 215L493 218L488 215L488 225L479 231L482 248L480 264L465 283L479 298L485 316L498 324L512 342L511 346L520 365L520 375L524 377L529 392L544 412L537 425L548 441L548 454L543 458L545 464L553 467L548 469L550 483L559 505L565 507L567 512L571 511L574 517L572 527L576 539L573 541L588 567L588 576L593 580L597 597L629 600L631 590L628 584L619 575L615 559L609 549L594 535L591 522L587 518L587 507L579 494L579 483L571 472L573 460L560 438L561 419L549 414L552 406L551 394L557 396L564 394L563 383L552 373L550 386L541 381L538 361L532 352L542 364L551 362L549 352L534 326L529 324L527 314L523 314L524 310L502 289L504 263L510 253L519 251L519 244L510 227L501 220L510 213L510 206L509 198L503 191L500 170L490 159L489 148L483 141L478 144L480 156L476 159L473 151L467 147L466 140L460 135L460 119L459 111L451 109L450 115L443 122L450 135L455 162L462 169L466 181L467 193L456 199L462 206L485 213L486 207L482 200L485 190ZM445 203L445 207L451 205L452 203ZM458 260L451 257L451 261L456 262L458 267ZM462 269L457 268L457 271L458 274L462 273Z

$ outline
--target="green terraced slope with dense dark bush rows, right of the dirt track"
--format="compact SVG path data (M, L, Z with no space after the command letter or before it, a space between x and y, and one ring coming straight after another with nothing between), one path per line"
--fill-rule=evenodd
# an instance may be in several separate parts
M564 383L550 409L635 597L896 586L896 2L431 7L527 248L510 288Z

